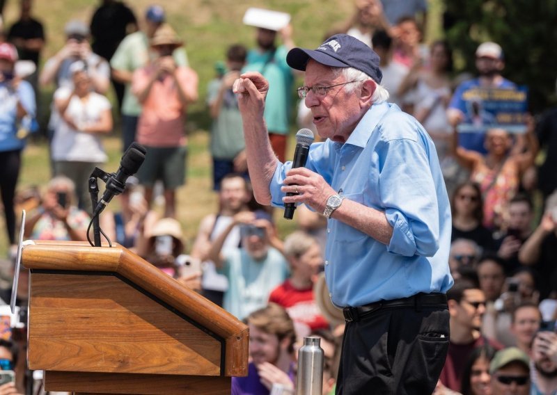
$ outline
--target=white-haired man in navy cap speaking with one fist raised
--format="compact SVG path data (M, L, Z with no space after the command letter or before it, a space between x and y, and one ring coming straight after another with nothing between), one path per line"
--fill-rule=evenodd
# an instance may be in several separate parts
M329 218L325 273L347 321L336 393L431 394L453 284L450 207L432 140L386 102L379 56L363 42L334 35L315 50L290 50L287 62L305 70L298 94L327 139L311 145L306 168L273 154L261 74L242 74L233 89L257 200L304 203Z

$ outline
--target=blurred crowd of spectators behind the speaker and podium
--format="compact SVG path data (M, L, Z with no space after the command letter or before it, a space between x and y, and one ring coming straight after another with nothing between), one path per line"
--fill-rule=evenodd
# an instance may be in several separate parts
M253 198L232 92L246 70L269 80L265 121L281 161L295 122L315 131L304 102L291 102L299 76L285 62L295 47L292 26L246 27L253 45L230 43L215 78L200 87L162 6L100 1L87 23L70 20L63 32L48 26L65 44L43 62L45 26L32 0L19 3L19 19L0 23L0 206L9 258L17 250L15 207L28 210L28 239L87 241L88 178L107 161L103 137L121 125L122 151L136 141L147 154L118 196L119 211L100 217L107 238L249 325L249 376L233 380L233 394L293 394L296 350L309 334L322 338L323 394L334 394L344 320L322 273L327 220L299 207L295 232L279 236L277 213ZM495 42L478 43L476 75L455 74L453 48L444 40L424 43L427 11L425 0L356 0L352 17L323 33L353 35L379 54L389 102L414 115L437 148L453 213L448 264L455 285L448 293L450 348L435 394L557 394L557 110L526 115L519 132L464 131L462 124L482 116L470 111L468 90L517 86L505 79L504 51ZM45 104L39 92L49 87L54 95ZM186 181L187 110L200 89L212 118L218 207L189 246L176 220L176 191ZM18 189L18 176L26 138L40 126L38 106L49 106L52 178L30 191ZM120 122L113 122L113 106ZM9 294L8 285L6 303ZM26 306L26 289L17 296ZM17 360L24 347L24 336L0 340L0 368L17 373L0 395L40 393L24 358Z

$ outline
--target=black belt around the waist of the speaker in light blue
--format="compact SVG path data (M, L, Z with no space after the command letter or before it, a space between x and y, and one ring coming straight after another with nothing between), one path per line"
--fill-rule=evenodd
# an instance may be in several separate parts
M383 307L415 307L420 311L422 306L447 306L447 296L444 293L416 293L408 298L379 300L379 302L359 307L344 307L343 314L346 322L360 321L363 316L375 312Z

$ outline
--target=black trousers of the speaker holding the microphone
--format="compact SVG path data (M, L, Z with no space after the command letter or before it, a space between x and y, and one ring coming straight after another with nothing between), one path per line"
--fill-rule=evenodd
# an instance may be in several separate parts
M446 307L382 307L346 324L337 395L432 394L449 341Z

